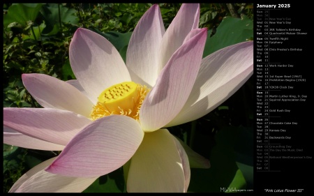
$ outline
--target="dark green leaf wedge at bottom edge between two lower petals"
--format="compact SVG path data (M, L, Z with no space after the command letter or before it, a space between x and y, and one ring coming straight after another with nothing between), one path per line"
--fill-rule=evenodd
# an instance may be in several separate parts
M123 169L119 168L110 174L100 176L83 193L126 193Z

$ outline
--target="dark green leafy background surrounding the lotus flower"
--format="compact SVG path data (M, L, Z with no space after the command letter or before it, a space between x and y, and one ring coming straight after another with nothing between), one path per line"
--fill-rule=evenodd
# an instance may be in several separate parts
M41 107L24 89L22 73L75 79L68 60L73 33L84 27L110 40L126 58L130 35L152 3L3 3L3 107ZM167 28L181 3L159 3ZM204 56L253 40L252 3L201 3L200 27L209 30ZM206 116L170 128L211 160L191 169L190 192L253 188L253 82ZM251 141L251 142L250 142ZM3 144L3 193L31 167L59 152ZM100 177L85 192L126 192L123 170Z

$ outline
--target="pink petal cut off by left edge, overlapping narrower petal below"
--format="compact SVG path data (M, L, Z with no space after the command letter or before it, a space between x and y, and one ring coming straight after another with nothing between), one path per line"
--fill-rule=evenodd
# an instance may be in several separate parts
M84 116L50 108L3 108L3 125L19 133L66 145L82 128L91 123Z

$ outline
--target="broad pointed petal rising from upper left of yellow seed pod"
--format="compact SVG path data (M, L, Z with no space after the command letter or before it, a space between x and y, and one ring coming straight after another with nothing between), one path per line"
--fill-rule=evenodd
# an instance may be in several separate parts
M93 103L108 87L130 81L117 49L106 38L88 29L75 31L70 43L70 64Z

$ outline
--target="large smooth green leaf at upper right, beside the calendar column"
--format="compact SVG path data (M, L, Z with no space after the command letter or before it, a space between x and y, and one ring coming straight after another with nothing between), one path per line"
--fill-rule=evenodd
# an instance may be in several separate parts
M225 17L216 29L214 36L207 34L203 58L217 50L241 43L253 37L253 21L244 17L243 19Z

